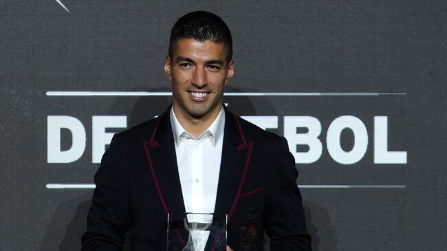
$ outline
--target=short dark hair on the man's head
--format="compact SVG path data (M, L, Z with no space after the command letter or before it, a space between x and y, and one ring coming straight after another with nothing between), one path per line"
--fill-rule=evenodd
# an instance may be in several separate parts
M230 29L217 14L196 11L185 14L175 22L169 39L169 56L173 60L173 49L180 39L195 39L204 42L223 43L226 47L226 61L233 56L233 43Z

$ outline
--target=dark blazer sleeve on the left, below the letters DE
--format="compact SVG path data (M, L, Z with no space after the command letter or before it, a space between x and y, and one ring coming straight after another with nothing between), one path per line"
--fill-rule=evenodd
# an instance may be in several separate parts
M118 142L118 135L113 135L95 175L87 231L81 239L85 251L122 250L124 233L129 228L129 196Z

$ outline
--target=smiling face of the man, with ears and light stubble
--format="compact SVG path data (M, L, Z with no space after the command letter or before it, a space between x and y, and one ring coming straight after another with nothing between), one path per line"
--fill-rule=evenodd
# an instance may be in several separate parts
M226 63L226 48L221 43L177 41L172 58L166 56L164 65L173 89L175 115L186 120L214 119L221 109L223 87L234 74L233 65L233 61Z

